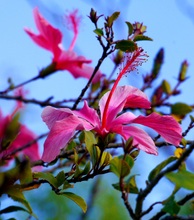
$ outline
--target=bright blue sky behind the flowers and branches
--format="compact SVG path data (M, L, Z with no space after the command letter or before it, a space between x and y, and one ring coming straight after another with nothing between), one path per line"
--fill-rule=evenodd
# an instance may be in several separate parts
M0 90L6 88L8 77L11 77L15 84L20 83L37 75L38 70L47 66L51 61L52 54L35 45L23 31L24 27L37 30L32 14L35 6L40 8L47 20L62 30L65 48L68 48L72 35L64 26L63 15L67 10L78 8L83 17L83 25L80 28L75 49L80 55L92 59L92 64L95 66L101 55L101 48L95 39L94 27L86 16L92 7L99 14L106 16L114 11L121 11L121 16L115 24L116 38L125 38L127 33L125 21L132 23L139 21L147 26L147 35L154 40L140 44L150 57L148 62L141 67L140 74L131 74L125 77L121 83L140 87L141 74L146 74L151 70L156 53L163 47L165 49L165 61L161 70L161 77L157 82L167 78L172 84L175 84L175 77L179 72L180 64L186 59L189 63L188 76L190 78L182 87L183 94L179 101L193 104L194 96L190 94L194 83L194 17L191 17L190 10L194 7L194 3L192 0L182 2L182 0L111 0L110 4L110 1L105 0L28 0L17 1L16 4L13 1L1 0ZM188 4L192 7L187 7ZM111 59L108 58L101 70L108 75L112 68ZM48 77L44 81L33 82L25 88L29 90L29 98L44 100L49 96L54 96L54 100L61 100L77 97L85 84L85 79L74 80L68 72L63 71ZM0 100L0 108L5 114L11 109L9 103ZM40 118L41 112L40 107L29 105L23 115L23 121L37 134L47 131ZM150 157L148 156L148 158ZM152 156L151 158L159 162L156 157ZM146 167L143 169L147 172Z

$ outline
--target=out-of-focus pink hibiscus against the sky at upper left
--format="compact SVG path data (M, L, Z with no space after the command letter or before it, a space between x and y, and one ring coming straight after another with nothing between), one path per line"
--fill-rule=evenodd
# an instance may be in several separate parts
M84 77L90 79L93 68L87 64L91 63L91 60L86 59L83 56L78 56L74 51L74 45L78 36L78 27L80 23L80 18L77 15L78 11L75 10L66 16L68 21L68 26L72 29L74 33L73 40L68 50L62 48L62 33L57 28L54 28L49 24L39 13L38 8L34 9L34 19L39 31L39 34L35 34L32 30L25 28L26 33L31 37L31 39L43 47L49 50L53 54L52 68L51 72L57 70L67 70L75 78ZM48 70L47 70L48 71ZM44 69L40 74L44 73ZM92 82L98 82L101 78L101 73L98 71Z

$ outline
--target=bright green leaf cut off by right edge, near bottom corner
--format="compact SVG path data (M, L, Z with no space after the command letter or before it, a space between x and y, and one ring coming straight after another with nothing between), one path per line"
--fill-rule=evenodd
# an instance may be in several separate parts
M171 172L165 176L178 187L194 190L194 174L187 170L180 170L177 173Z

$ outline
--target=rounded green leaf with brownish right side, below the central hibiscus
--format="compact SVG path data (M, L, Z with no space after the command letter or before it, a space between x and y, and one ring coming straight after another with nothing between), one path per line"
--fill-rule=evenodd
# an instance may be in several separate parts
M128 163L126 161L124 161L123 159L120 159L118 157L114 157L110 161L110 170L111 170L111 172L116 174L119 178L120 177L123 178L130 173L131 168L128 165Z

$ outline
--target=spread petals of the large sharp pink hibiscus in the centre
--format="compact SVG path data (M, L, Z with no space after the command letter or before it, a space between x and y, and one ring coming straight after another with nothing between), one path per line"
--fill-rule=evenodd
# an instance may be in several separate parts
M149 116L135 116L131 112L122 113L122 110L128 107L150 108L150 102L142 91L132 86L118 86L108 101L109 95L110 92L107 92L99 101L100 116L86 101L81 110L46 107L42 118L50 132L44 144L42 160L45 162L54 160L78 130L92 130L102 137L116 133L125 140L133 137L133 145L138 149L157 155L152 138L134 125L140 124L154 129L166 142L179 145L182 138L181 127L173 117L157 113Z

